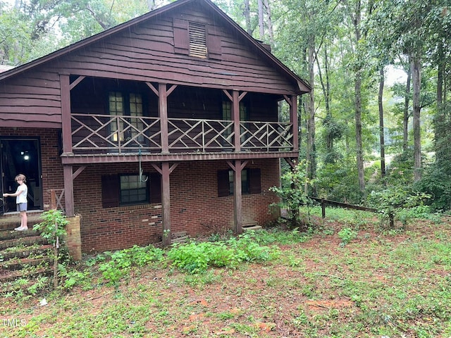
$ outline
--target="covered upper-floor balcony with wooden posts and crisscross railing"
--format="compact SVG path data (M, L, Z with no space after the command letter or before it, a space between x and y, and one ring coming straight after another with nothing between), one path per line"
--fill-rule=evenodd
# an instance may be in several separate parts
M63 118L66 164L93 156L161 161L297 152L296 96L85 77L72 87ZM288 122L280 122L280 101L288 103Z

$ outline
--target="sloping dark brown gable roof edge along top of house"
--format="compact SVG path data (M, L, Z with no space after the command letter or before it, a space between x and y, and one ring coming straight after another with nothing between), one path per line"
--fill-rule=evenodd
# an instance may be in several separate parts
M175 1L172 4L168 4L161 8L157 8L154 11L150 11L149 13L141 15L137 18L133 18L132 20L128 20L125 23L122 23L115 27L111 27L109 30L104 30L103 32L100 32L96 35L92 35L92 37L87 37L86 39L82 39L79 42L75 42L74 44L70 44L69 46L66 46L62 49L58 49L57 51L47 54L46 56L42 56L41 58L37 58L36 60L30 61L28 63L24 63L23 65L20 65L11 70L6 70L3 73L0 73L0 81L6 79L8 77L11 77L13 75L18 75L18 74L24 72L25 70L30 70L32 68L37 67L38 65L47 63L47 62L52 61L61 56L65 56L66 54L69 54L72 51L81 49L89 44L99 41L100 39L104 39L105 37L109 37L113 34L116 34L117 32L126 30L133 25L138 25L145 20L149 20L150 18L156 17L157 15L161 15L163 13L173 11L176 8L180 8L181 6L184 6L186 4L191 4L194 2L197 2L200 6L208 7L212 11L214 11L216 14L218 14L223 20L226 21L226 23L228 23L228 25L233 27L237 31L237 33L243 39L245 39L245 41L247 41L249 44L254 46L259 51L261 56L266 58L274 66L274 68L277 68L280 71L280 73L285 74L292 81L296 82L299 92L301 92L302 94L310 92L311 87L309 86L309 84L306 81L302 80L300 77L295 75L295 73L293 73L292 70L290 70L290 68L288 68L280 60L278 60L278 58L276 58L276 56L273 56L273 54L271 54L271 52L268 51L268 49L266 49L263 44L258 42L251 35L249 35L245 30L243 30L242 27L240 27L240 25L235 23L235 21L232 20L228 15L226 15L226 13L221 11L221 9L218 8L218 6L216 6L215 4L213 4L211 2L211 0L178 0L178 1Z

